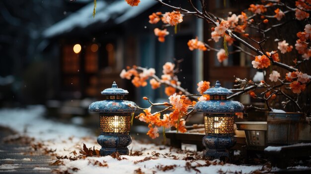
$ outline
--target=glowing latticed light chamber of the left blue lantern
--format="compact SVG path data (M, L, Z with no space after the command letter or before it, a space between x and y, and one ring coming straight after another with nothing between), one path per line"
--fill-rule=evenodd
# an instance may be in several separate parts
M100 133L129 134L131 116L100 116Z

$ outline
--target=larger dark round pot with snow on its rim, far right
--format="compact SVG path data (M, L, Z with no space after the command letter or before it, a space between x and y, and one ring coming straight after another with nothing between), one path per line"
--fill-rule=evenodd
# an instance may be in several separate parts
M267 143L289 145L298 143L299 124L303 113L268 113Z

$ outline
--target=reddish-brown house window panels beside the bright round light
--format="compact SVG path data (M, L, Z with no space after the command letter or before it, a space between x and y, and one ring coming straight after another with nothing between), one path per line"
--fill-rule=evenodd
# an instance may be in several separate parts
M99 45L96 43L86 46L69 44L63 47L63 91L79 91L82 97L97 94L98 50Z

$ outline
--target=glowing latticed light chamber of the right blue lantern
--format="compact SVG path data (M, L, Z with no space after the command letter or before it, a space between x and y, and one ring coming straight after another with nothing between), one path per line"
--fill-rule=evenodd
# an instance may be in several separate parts
M233 134L233 114L204 114L205 134L207 135L228 135Z

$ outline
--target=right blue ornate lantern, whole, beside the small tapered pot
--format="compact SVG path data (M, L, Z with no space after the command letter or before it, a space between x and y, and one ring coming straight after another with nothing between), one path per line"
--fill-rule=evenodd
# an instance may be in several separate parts
M221 87L219 81L214 88L206 90L203 94L210 95L210 100L199 101L194 106L196 112L204 113L205 136L202 143L206 147L203 154L207 158L233 159L233 151L229 150L236 143L234 138L235 113L243 112L243 105L236 101L227 100L232 94L227 88Z

